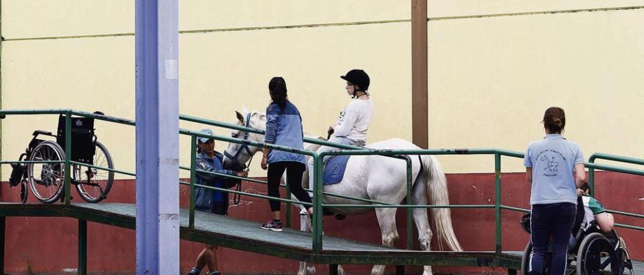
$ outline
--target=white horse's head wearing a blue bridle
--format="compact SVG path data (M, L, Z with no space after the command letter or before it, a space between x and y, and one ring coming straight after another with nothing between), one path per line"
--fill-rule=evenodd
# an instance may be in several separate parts
M245 109L242 112L235 112L237 114L237 125L252 129L266 130L265 114L261 114L259 112L249 112ZM264 141L263 135L252 132L245 132L242 130L232 130L231 136L247 141ZM230 167L232 170L245 169L247 168L246 163L258 150L260 150L260 148L256 146L249 146L239 143L229 143L228 148L226 148L226 150L223 152L223 164L226 167Z

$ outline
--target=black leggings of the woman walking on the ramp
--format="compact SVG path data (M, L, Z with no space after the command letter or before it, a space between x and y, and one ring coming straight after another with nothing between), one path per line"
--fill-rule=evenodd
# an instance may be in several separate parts
M308 193L302 188L302 175L306 166L297 161L278 161L269 164L269 196L279 198L279 181L286 170L287 184L290 192L301 202L311 202ZM279 211L279 200L269 200L270 211ZM308 208L308 207L307 207Z

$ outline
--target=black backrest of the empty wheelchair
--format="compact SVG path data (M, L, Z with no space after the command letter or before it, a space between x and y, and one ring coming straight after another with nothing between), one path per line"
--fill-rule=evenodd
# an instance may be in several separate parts
M58 118L56 142L65 149L65 115ZM71 160L93 164L96 147L94 145L94 119L71 117Z

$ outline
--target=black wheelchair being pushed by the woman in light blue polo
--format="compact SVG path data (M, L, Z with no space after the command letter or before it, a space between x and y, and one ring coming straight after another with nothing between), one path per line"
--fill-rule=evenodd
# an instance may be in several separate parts
M581 197L580 197L581 200ZM578 202L578 206L583 206ZM612 230L611 233L602 233L595 222L582 225L584 208L577 208L576 221L573 226L574 245L568 247L568 269L565 274L624 274L629 269L633 274L633 265L629 252L623 239ZM524 214L521 218L521 227L528 234L530 233L530 213ZM529 267L529 257L532 254L532 244L528 242L521 258L521 274L526 275ZM549 247L545 254L544 271L542 274L550 274L553 251ZM571 263L574 263L574 270ZM610 271L609 271L610 270Z

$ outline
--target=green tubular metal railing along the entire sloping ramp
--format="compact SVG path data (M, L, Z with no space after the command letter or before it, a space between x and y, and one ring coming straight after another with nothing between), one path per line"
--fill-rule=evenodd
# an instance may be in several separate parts
M68 109L50 109L50 110L2 110L0 111L0 114L5 114L5 115L14 115L14 114L65 114L66 115L66 148L65 148L65 155L66 159L64 160L65 163L65 204L70 204L70 185L71 185L71 175L70 175L70 164L82 164L82 163L77 163L74 161L71 161L70 156L71 156L71 116L82 116L86 118L95 118L97 120L104 120L104 121L109 121L113 123L120 123L120 124L125 124L125 125L135 125L135 121L133 120L127 120L123 118L115 118L111 116L104 116L104 115L99 115L99 114L93 114L90 112L80 112L80 111L73 111L73 110L68 110ZM234 125L234 124L229 124L229 123L222 123L219 121L212 121L212 120L204 120L201 118L195 118L193 116L185 116L185 115L180 115L180 120L184 121L191 121L195 123L202 123L205 125L212 125L216 127L224 127L227 129L236 129L236 130L242 130L245 132L253 132L256 134L263 134L263 130L258 130L258 129L249 129L240 125ZM502 156L509 156L509 157L516 157L516 158L523 158L524 155L520 152L515 152L515 151L510 151L510 150L500 150L496 148L484 148L484 149L431 149L431 150L365 150L365 148L361 147L356 147L356 146L347 146L347 145L339 145L336 143L329 143L327 141L322 141L319 139L312 139L305 137L304 141L307 143L314 143L318 145L327 145L327 146L333 146L336 148L343 148L343 149L348 149L346 151L328 151L328 152L323 152L321 154L316 154L316 152L311 152L308 150L300 150L296 148L289 148L286 146L279 146L279 145L271 145L271 144L266 144L266 143L260 143L260 142L255 142L255 141L249 141L245 139L238 139L235 137L227 137L227 136L219 136L219 135L207 135L203 134L201 132L195 132L191 130L185 130L185 129L180 129L179 130L180 134L184 134L187 136L191 136L191 165L189 168L181 166L180 168L183 170L189 170L190 171L190 179L189 182L180 182L180 184L185 184L190 186L190 202L189 202L189 227L193 228L194 227L194 190L197 187L200 188L208 188L211 190L217 190L217 191L225 191L229 193L235 193L235 194L240 194L240 195L246 195L250 197L259 197L261 199L274 199L274 200L279 200L281 202L285 202L287 204L287 224L290 222L290 204L302 204L305 206L312 206L314 208L314 215L313 215L313 240L312 240L312 253L314 254L319 254L323 250L323 240L322 240L322 209L325 207L343 207L343 208L406 208L407 209L407 245L408 248L412 247L412 209L413 208L494 208L495 209L495 251L497 253L501 253L502 251L502 242L501 242L501 228L502 228L502 220L501 220L501 212L502 209L507 209L511 211L523 211L526 212L528 211L527 209L522 209L522 208L516 208L513 206L505 206L502 204L502 197L501 197L501 157ZM216 139L219 141L227 141L229 143L238 143L238 144L243 144L243 145L249 145L249 146L256 146L259 148L271 148L273 150L280 150L280 151L285 151L285 152L293 152L296 154L303 154L303 155L309 155L314 159L314 182L313 182L313 188L306 189L307 191L312 191L314 193L313 197L313 202L312 203L306 203L306 202L298 202L296 200L291 200L290 197L287 197L287 199L279 199L279 198L272 198L269 196L265 195L258 195L258 194L253 194L253 193L247 193L243 191L234 191L234 190L227 190L225 188L216 188L213 186L203 186L200 184L195 183L196 179L196 173L212 173L212 172L207 172L204 170L198 170L196 169L196 164L195 164L195 159L196 159L196 139L197 137L207 137L209 139ZM322 186L322 171L323 171L323 163L321 162L321 159L323 157L328 156L328 155L384 155L388 157L398 157L406 161L406 167L407 167L407 200L405 205L401 204L390 204L388 202L379 202L377 200L370 200L370 199L362 199L362 198L356 198L356 197L351 197L351 196L346 196L346 195L341 195L341 194L334 194L334 193L328 193L323 191L323 186ZM411 180L412 180L412 166L411 166L411 159L408 157L408 155L494 155L494 160L495 160L495 204L494 205L489 205L489 204L462 204L462 205L445 205L445 206L440 206L440 205L411 205L410 204L410 192L411 192ZM589 183L591 184L591 188L594 187L594 170L595 169L600 169L600 170L607 170L607 171L612 171L612 172L621 172L621 173L629 173L633 175L644 175L644 170L636 170L632 168L623 168L623 167L618 167L618 166L609 166L609 165L604 165L604 164L596 164L594 163L595 159L608 159L611 161L621 161L625 163L634 163L634 164L644 164L644 160L641 159L633 159L629 157L620 157L616 155L607 155L607 154L594 154L591 156L591 159L589 160L589 163L587 163L587 167L589 168ZM61 163L62 161L35 161L32 163ZM30 161L0 161L0 164L2 163L30 163ZM85 166L89 166L88 164L82 164ZM111 172L116 172L116 173L122 173L124 175L135 175L134 173L129 173L129 172L124 172L116 169L109 169L105 167L99 167L99 166L91 166L93 168L97 169L102 169L102 170L108 170ZM222 177L229 177L232 179L242 179L243 181L249 181L249 182L258 182L262 184L266 184L265 181L258 181L255 179L247 179L247 178L241 178L241 177L235 177L231 175L223 175L223 174L218 174L218 173L213 173L215 175L220 175ZM285 185L282 185L285 186ZM286 186L285 186L286 187ZM287 190L287 193L288 192ZM336 196L336 197L341 197L344 199L352 199L352 200L357 200L361 202L369 202L372 204L359 204L359 205L354 205L354 204L325 204L322 201L323 195L330 195L330 196ZM638 217L638 218L644 218L644 215L640 215L637 213L628 213L628 212L622 212L622 211L611 211L611 213L616 213L620 215L627 215L630 217ZM81 224L79 224L81 226ZM626 227L630 229L638 229L638 230L644 230L644 227L638 227L638 226L629 226L629 225L623 225L623 224L618 224L616 226L620 227ZM79 227L80 228L80 227ZM84 229L86 231L86 228ZM80 237L79 237L80 238ZM80 240L80 239L79 239Z

